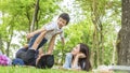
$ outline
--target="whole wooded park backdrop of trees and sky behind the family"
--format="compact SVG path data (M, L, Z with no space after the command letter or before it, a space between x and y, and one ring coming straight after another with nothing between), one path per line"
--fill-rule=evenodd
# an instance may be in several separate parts
M0 52L11 59L28 42L26 34L67 12L65 46L54 47L55 64L78 43L89 45L93 68L130 64L129 0L0 0ZM43 46L47 52L48 44Z

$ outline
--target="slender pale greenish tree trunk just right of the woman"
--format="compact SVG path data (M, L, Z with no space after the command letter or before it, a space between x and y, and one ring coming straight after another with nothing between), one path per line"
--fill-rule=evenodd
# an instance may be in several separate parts
M94 65L95 67L98 67L100 63L101 63L101 47L100 47L100 45L101 45L101 39L100 38L102 38L101 36L101 33L102 32L100 32L101 31L101 26L100 25L102 25L101 24L101 20L100 20L100 13L99 13L99 8L98 8L98 5L99 5L99 1L96 1L96 0L93 0L92 1L92 6L91 6L91 11L92 11L92 23L93 23L93 25L94 25L94 33L93 33L93 46L94 46Z

